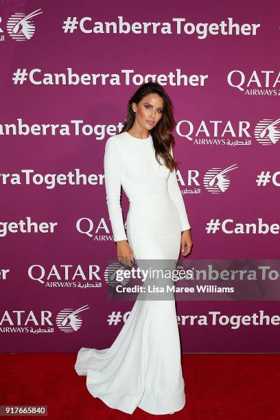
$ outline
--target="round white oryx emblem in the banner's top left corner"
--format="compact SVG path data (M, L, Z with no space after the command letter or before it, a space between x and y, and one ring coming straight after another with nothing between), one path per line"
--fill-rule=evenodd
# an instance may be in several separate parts
M7 22L8 34L17 41L24 41L32 38L35 32L35 23L33 18L40 12L41 9L34 10L30 14L15 13L10 16Z

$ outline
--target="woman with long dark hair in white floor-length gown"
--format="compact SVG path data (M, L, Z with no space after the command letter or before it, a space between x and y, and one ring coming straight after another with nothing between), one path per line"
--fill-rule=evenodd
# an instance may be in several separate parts
M176 266L191 252L190 225L173 159L175 126L170 97L157 83L143 84L128 102L124 128L106 141L106 201L117 257L126 266L164 261ZM121 212L121 185L130 201ZM169 262L168 262L169 261ZM139 294L140 295L140 294ZM173 296L174 297L174 296ZM139 296L138 296L139 298ZM110 408L153 415L185 406L180 340L174 299L138 299L108 349L78 351L75 371Z

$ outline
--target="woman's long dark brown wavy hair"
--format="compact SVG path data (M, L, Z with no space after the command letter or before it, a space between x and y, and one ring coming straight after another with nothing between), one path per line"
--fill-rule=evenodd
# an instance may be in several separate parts
M142 84L134 95L132 95L128 101L128 113L126 115L124 127L120 132L130 130L135 122L135 112L132 110L132 103L135 102L135 104L138 104L143 97L149 93L157 93L163 98L162 117L156 126L150 130L150 135L152 135L152 141L154 143L156 161L161 165L161 162L159 161L159 157L161 157L164 165L173 172L177 162L174 161L174 158L170 154L170 148L173 148L175 144L172 130L176 125L176 121L174 120L173 104L170 97L159 83L148 82Z

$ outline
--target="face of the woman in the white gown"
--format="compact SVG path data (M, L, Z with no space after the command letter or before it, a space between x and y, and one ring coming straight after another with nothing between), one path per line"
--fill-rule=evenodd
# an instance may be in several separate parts
M135 119L147 130L152 130L163 115L163 98L157 93L149 93L142 100L132 104L132 110L136 111Z

